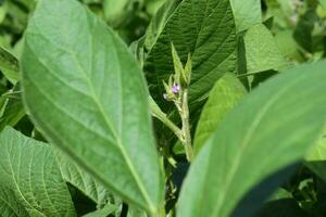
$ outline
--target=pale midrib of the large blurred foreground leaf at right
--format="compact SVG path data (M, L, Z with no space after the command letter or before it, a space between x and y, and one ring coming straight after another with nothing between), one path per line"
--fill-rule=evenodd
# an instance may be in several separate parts
M262 110L258 113L256 118L254 119L254 122L252 122L252 124L249 127L249 130L247 131L244 139L241 142L240 145L240 150L237 152L236 156L234 157L234 164L231 165L231 168L228 173L228 175L226 176L226 179L224 181L225 186L223 187L223 190L221 192L221 196L220 200L216 203L215 208L213 209L213 215L212 216L221 216L221 207L225 202L225 196L227 194L227 192L229 191L229 188L234 181L234 177L240 166L240 158L242 158L243 153L246 152L246 150L248 149L248 145L250 144L250 140L254 133L254 131L256 130L256 128L259 127L259 125L261 124L261 120L264 118L265 114L268 112L268 110L271 108L271 106L274 105L274 103L281 98L281 95L284 93L287 92L287 90L289 90L292 86L294 86L297 82L300 81L300 79L302 79L302 75L298 76L297 79L293 79L292 82L287 84L287 86L285 86L284 88L280 89L280 91L275 94L273 98L269 99L268 103L266 103L264 106L262 106Z

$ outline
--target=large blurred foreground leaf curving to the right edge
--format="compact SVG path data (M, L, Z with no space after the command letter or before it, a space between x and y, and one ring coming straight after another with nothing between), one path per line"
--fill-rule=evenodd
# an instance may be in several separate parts
M279 74L239 102L192 163L178 217L230 216L249 190L304 156L326 120L325 67L321 62ZM290 173L280 175L284 181ZM268 191L275 183L264 186Z

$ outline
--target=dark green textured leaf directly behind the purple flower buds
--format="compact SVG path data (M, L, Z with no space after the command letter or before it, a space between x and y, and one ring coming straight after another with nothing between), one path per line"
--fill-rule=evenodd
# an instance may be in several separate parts
M171 42L184 63L191 53L189 101L201 101L220 77L235 71L236 28L229 0L185 0L168 16L145 63L155 100L162 99L162 80L173 73Z

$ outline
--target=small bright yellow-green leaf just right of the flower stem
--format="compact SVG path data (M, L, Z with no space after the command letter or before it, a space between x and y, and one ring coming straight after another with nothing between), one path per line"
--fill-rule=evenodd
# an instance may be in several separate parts
M246 92L240 80L233 74L226 74L215 84L197 126L193 141L196 155Z

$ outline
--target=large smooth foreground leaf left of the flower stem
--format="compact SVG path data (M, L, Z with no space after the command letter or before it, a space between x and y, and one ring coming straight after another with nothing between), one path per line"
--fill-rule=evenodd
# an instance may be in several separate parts
M77 1L41 0L22 69L26 110L46 138L110 191L155 213L163 179L148 90L122 40Z

